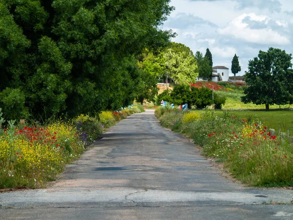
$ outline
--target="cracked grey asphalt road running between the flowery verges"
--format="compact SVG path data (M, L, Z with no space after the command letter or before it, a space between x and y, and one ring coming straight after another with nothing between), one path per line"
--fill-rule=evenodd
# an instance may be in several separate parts
M221 176L153 110L105 133L47 189L0 194L0 219L292 220L292 190Z

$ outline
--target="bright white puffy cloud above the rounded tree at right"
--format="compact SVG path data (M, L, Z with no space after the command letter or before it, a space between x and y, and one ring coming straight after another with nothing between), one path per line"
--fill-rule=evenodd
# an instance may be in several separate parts
M233 19L225 28L218 28L218 33L221 35L234 36L236 39L241 39L249 43L276 45L290 44L290 40L287 37L281 36L277 31L272 30L270 27L251 29L248 23L243 22L247 17L250 17L251 21L263 22L265 24L270 21L270 18L267 16L258 16L254 13L242 14Z

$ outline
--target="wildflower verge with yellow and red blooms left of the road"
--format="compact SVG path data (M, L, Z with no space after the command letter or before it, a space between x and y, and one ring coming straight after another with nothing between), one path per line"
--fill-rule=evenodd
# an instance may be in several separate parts
M0 189L45 187L63 172L65 164L79 158L86 146L101 138L105 128L142 111L140 106L103 111L95 117L80 115L70 122L44 126L15 126L9 121L5 129L0 129Z

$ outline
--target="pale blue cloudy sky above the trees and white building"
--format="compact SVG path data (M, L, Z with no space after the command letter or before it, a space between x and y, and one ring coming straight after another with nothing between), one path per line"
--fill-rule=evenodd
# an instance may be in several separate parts
M173 41L193 53L205 55L209 47L213 66L231 69L236 54L240 76L259 50L275 47L293 54L293 0L171 0L170 5L176 9L164 29L176 32Z

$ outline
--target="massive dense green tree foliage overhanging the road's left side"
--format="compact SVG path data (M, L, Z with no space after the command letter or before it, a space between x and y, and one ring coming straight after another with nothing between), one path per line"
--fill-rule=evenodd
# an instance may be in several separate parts
M143 78L135 56L165 47L173 36L159 28L173 9L168 3L0 0L5 117L75 116L133 102Z

